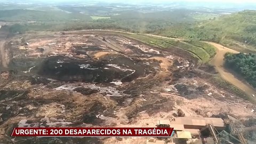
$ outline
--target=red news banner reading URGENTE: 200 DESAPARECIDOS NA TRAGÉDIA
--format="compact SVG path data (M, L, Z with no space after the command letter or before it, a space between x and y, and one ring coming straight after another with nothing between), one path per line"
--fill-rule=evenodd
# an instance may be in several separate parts
M15 127L12 137L171 137L171 127Z

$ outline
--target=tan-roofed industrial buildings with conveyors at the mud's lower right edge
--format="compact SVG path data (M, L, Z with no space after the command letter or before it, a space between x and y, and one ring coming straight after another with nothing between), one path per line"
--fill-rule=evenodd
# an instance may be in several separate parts
M256 127L244 127L225 118L212 117L176 117L174 121L158 120L157 127L173 127L174 134L170 138L151 138L147 144L246 144L243 132L256 130Z

